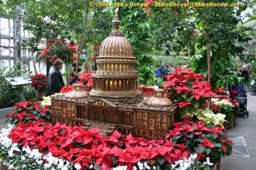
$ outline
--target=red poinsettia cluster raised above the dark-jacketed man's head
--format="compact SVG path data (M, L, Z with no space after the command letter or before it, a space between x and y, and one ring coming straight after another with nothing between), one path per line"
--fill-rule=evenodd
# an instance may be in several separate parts
M42 54L39 56L43 63L46 62L47 65L54 63L57 58L60 58L65 63L71 63L77 61L77 57L74 57L74 54L78 53L77 49L77 45L74 42L63 43L61 40L49 39Z

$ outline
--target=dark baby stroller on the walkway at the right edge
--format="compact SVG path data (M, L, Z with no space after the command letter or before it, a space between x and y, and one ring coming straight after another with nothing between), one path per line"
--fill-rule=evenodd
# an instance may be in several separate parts
M242 91L231 91L231 98L239 103L240 113L243 113L243 116L246 115L248 117L249 111L247 111L247 98L245 93Z

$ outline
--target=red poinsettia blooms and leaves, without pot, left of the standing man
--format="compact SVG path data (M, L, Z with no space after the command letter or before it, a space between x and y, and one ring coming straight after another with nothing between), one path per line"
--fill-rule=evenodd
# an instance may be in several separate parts
M48 78L43 74L36 74L31 80L31 87L34 87L35 90L45 91L47 89Z

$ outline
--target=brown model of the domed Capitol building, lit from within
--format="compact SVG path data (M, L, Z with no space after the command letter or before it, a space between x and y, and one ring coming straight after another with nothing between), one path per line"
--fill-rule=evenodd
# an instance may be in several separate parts
M119 31L118 8L115 12L113 31L102 41L96 57L92 90L85 92L75 84L65 97L52 96L52 123L98 127L105 137L118 130L133 137L164 138L177 120L178 106L164 97L162 89L148 99L138 90L136 58L131 43Z

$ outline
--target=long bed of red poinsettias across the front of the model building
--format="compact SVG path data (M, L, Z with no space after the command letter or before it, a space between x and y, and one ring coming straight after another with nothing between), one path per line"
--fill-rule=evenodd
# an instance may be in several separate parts
M39 125L37 122L23 124L20 121L9 137L14 143L38 148L40 152L49 151L53 156L62 157L73 164L79 163L82 169L89 169L90 165L100 166L101 169L126 165L127 169L133 169L140 160L148 161L149 165L158 162L159 166L164 167L165 164L189 157L183 143L172 145L167 139L149 141L133 138L131 134L124 137L117 131L105 139L98 128L84 130L82 126L59 123L52 126Z

